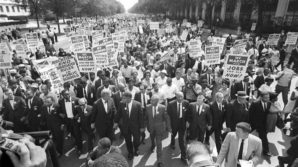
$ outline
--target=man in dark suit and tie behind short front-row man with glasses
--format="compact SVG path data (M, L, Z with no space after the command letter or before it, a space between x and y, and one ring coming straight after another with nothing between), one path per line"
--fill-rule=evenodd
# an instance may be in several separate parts
M88 105L92 105L94 101L96 101L96 91L93 85L87 84L86 80L80 81L80 86L76 88L77 97L83 98L85 97L88 101Z

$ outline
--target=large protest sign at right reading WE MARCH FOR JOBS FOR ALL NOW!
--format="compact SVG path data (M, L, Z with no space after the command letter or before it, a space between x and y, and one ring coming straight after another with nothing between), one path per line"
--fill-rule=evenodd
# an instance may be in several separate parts
M225 62L223 78L242 80L246 72L249 56L241 54L228 54Z

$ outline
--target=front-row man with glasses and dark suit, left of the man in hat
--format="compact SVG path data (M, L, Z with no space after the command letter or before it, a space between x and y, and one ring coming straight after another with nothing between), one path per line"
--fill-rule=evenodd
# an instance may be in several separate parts
M215 101L211 102L210 104L210 112L212 115L212 127L210 130L206 131L205 136L205 143L210 145L209 138L210 135L214 132L214 138L215 138L215 145L217 149L217 153L219 153L221 148L221 129L222 124L225 121L225 111L227 107L227 102L223 100L223 93L217 92L215 94Z

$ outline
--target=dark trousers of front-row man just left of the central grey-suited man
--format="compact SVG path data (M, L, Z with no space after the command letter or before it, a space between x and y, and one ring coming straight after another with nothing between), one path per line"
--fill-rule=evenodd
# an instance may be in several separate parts
M131 136L133 137L133 141L131 141ZM139 132L132 132L130 128L128 127L127 133L124 134L126 148L128 153L133 153L133 147L134 150L138 149L138 146L140 145L140 134ZM132 147L133 146L133 147Z

